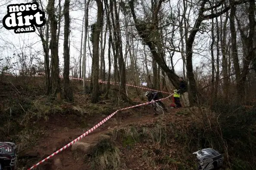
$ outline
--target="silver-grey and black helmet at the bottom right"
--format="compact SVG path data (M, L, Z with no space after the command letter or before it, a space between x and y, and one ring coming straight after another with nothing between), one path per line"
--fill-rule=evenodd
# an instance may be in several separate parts
M205 148L196 152L197 161L199 161L198 170L221 170L223 165L223 156L212 148Z

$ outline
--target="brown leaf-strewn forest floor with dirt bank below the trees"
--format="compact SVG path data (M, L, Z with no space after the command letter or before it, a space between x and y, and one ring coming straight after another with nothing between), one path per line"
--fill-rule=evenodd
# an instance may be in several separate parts
M0 141L17 144L17 170L27 170L111 113L133 106L116 100L116 91L113 90L109 99L101 96L99 103L92 104L89 94L82 93L79 82L71 82L74 103L57 102L44 95L40 78L26 81L0 76L0 119L3 120ZM130 87L127 92L134 104L147 102L142 90L138 92ZM117 112L95 131L34 169L196 170L197 161L192 153L205 147L217 148L221 154L229 154L224 162L227 167L253 169L254 157L250 157L252 160L249 162L246 161L248 158L237 158L235 155L239 143L253 143L250 139L243 140L245 136L242 135L253 133L256 127L251 106L245 109L241 106L221 107L224 109L220 111L222 113L226 110L232 112L218 120L219 113L203 106L171 109L171 102L171 99L163 100L168 109L164 115L154 115L149 105ZM237 130L234 131L234 122L246 122L243 124L247 128L240 128L235 123ZM236 152L226 150L224 141L232 138L235 142L231 141L228 145L229 148L234 147ZM243 153L247 146L239 152Z

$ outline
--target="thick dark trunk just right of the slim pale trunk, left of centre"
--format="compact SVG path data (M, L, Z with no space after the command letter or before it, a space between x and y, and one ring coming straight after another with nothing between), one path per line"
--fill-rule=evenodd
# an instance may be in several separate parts
M101 0L96 0L98 12L97 21L92 25L92 38L93 38L93 52L92 52L92 103L97 103L99 101L99 40L100 34L103 28L103 4Z

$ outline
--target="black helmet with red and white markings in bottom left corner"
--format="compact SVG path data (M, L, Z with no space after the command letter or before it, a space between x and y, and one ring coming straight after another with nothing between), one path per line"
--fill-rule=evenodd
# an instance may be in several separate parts
M0 170L14 170L16 160L16 144L0 142Z

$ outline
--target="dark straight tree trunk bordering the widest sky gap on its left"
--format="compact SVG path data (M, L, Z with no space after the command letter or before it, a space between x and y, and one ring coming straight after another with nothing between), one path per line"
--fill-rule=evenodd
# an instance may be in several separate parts
M64 2L64 43L63 43L63 58L64 58L64 98L70 102L74 101L72 88L70 87L70 0Z

